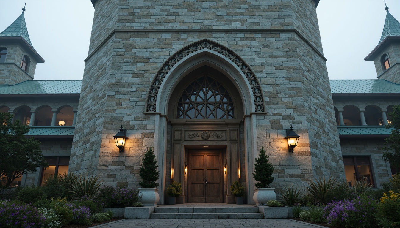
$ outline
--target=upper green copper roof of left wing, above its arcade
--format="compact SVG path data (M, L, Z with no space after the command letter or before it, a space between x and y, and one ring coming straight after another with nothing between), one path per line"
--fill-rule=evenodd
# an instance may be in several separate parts
M0 85L2 94L79 94L82 80L31 80Z

